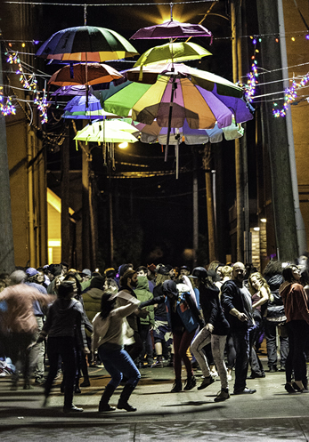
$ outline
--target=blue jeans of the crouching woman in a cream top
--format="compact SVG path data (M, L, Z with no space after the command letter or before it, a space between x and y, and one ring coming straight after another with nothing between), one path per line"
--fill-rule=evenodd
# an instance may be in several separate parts
M98 353L105 370L111 376L109 385L117 389L123 374L126 376L126 383L133 385L133 387L137 385L141 379L141 374L126 350L122 348L115 349L109 344L103 344L99 347Z

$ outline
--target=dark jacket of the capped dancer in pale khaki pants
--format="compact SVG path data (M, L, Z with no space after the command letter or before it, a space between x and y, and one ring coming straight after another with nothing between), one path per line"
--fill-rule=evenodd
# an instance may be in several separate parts
M219 300L220 290L215 285L199 285L199 305L203 311L205 324L214 325L213 334L224 336L229 333L230 325L224 317Z

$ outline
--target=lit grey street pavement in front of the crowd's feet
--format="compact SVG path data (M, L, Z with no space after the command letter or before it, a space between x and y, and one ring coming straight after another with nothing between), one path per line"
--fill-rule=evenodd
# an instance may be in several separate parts
M266 358L263 358L266 366ZM56 381L50 403L43 407L44 389L32 383L31 390L11 390L9 376L0 378L1 442L199 442L199 441L308 441L309 394L289 395L285 374L269 373L248 380L253 395L234 396L215 403L220 390L216 380L205 390L170 393L172 367L142 368L142 379L129 402L137 411L98 413L98 404L110 377L102 366L90 367L91 386L76 394L74 404L83 413L63 414L61 378ZM196 371L197 386L201 372ZM183 370L183 379L185 372ZM233 387L234 374L230 382ZM110 405L117 406L119 386Z

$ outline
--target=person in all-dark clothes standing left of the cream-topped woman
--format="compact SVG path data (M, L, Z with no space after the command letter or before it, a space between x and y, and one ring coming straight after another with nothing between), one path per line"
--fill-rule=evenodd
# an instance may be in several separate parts
M75 287L73 281L63 281L58 288L58 297L48 310L46 322L37 342L47 339L47 356L50 363L49 373L45 382L45 402L53 386L53 380L58 372L59 357L62 359L64 380L63 412L82 412L83 408L73 405L73 391L77 373L77 346L85 353L82 336L83 307L74 299Z

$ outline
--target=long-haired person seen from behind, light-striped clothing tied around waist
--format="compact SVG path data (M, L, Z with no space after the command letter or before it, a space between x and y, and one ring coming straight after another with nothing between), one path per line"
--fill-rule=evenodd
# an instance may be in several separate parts
M283 283L281 261L269 261L263 272L264 278L271 290L267 309L264 317L264 330L268 367L270 373L278 370L277 356L277 330L280 330L280 371L285 371L286 360L289 354L289 337L284 333L287 317L285 315L283 301L279 294L279 287Z

